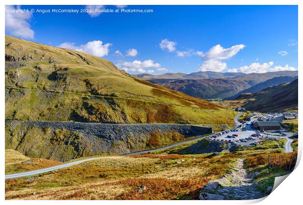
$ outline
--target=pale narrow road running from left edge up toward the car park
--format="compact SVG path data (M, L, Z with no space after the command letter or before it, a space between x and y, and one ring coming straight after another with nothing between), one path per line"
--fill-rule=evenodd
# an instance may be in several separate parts
M164 146L164 147L160 147L160 148L156 148L156 149L150 149L150 150L128 153L128 154L125 154L124 156L140 155L140 154L146 154L146 153L154 152L154 151L162 151L162 150L165 150L167 148L171 148L171 147L178 146L178 145L185 144L185 143L194 142L196 140L201 140L201 139L204 139L204 138L206 138L206 137L197 137L197 138L192 139L192 140L187 140L187 141L183 141L183 142L180 142L180 143L174 143L174 144ZM84 160L78 160L78 161L75 161L75 162L60 164L60 165L51 166L51 167L38 169L38 170L34 170L34 171L20 172L20 173L16 173L16 174L7 174L7 175L5 175L5 179L15 179L15 178L20 178L20 177L28 177L28 176L32 176L32 175L42 174L42 173L45 173L45 172L65 168L65 167L72 166L72 165L75 165L75 164L84 163L84 162L91 161L91 160L98 160L98 159L101 159L101 158L115 158L115 157L116 156L92 157L92 158L88 158L88 159L84 159Z

